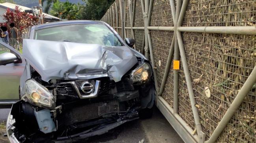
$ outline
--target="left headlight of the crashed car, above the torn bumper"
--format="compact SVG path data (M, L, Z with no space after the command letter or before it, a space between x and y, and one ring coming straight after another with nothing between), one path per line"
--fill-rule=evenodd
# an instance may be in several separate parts
M28 102L38 107L55 107L54 96L43 85L30 79L25 83L25 92Z

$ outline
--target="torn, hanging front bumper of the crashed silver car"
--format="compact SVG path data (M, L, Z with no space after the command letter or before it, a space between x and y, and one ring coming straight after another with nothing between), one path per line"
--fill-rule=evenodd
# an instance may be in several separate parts
M116 101L82 104L90 100L84 99L63 104L62 108L54 110L40 109L21 100L13 104L9 113L7 136L11 143L71 143L101 135L127 121L138 119L142 107L152 107L153 88L147 94L151 95L140 97L138 91L123 92L116 94ZM97 117L92 115L94 109L97 109ZM85 116L88 119L82 121Z

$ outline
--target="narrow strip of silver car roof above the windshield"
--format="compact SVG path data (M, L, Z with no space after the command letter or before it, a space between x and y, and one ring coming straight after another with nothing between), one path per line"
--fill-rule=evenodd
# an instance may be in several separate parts
M104 22L93 21L93 20L70 20L70 21L50 22L47 24L36 25L35 30L45 29L50 27L57 27L57 26L64 26L64 25L75 25L75 24L104 24Z

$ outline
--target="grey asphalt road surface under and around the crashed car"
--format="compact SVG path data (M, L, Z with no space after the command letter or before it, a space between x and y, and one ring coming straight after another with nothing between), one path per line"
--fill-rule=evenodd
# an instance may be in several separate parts
M0 109L0 120L6 119L8 114L9 109ZM183 143L157 107L151 119L127 122L101 136L89 138L86 143L139 143L142 139L144 143ZM8 143L3 134L0 134L0 142Z

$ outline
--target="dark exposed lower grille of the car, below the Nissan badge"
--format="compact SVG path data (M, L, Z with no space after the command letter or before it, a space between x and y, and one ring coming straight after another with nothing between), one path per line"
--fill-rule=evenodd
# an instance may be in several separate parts
M105 114L118 113L120 111L118 101L98 102L74 107L72 109L73 121L80 122L88 119L99 118Z

